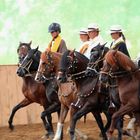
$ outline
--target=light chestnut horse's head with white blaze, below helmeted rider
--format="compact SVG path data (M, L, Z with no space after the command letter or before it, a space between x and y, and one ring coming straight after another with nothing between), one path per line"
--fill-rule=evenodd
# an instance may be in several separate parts
M46 50L41 54L38 71L35 76L37 82L45 82L53 79L57 73L61 54Z

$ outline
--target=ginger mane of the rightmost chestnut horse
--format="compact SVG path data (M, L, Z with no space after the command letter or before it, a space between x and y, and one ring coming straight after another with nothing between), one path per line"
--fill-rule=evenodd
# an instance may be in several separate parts
M136 69L134 62L127 55L117 50L109 50L105 55L105 60L112 66L118 63L126 71Z

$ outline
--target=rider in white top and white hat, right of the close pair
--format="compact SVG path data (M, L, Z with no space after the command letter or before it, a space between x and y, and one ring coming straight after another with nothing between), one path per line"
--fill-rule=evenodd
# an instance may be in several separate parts
M103 39L99 35L100 29L99 26L96 23L91 23L88 25L88 35L89 35L89 43L86 52L84 55L87 58L90 58L90 52L93 47L97 46L99 43L103 44Z

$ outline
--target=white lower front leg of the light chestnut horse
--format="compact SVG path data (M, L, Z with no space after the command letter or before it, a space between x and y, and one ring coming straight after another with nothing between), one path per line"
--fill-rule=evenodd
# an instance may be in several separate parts
M62 130L63 130L63 125L62 123L57 123L57 130L54 136L53 140L60 140L61 138L61 134L62 134Z

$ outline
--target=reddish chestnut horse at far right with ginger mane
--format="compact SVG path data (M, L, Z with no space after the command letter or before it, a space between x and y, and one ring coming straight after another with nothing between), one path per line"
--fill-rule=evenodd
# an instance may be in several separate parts
M125 114L133 113L136 117L135 126L140 127L140 71L134 62L117 50L110 50L105 56L100 72L100 80L108 82L108 78L116 78L121 102L120 109L112 116L109 135L114 132L116 119ZM139 130L138 130L139 132ZM140 134L138 133L138 139Z

